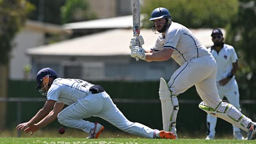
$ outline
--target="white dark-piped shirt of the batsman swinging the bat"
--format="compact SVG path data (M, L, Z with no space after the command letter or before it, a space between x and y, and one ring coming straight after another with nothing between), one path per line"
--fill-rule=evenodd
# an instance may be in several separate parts
M182 65L189 59L202 55L211 55L188 28L176 22L171 23L165 35L159 34L151 50L159 51L163 50L163 48L172 48L174 50L172 58L179 65Z

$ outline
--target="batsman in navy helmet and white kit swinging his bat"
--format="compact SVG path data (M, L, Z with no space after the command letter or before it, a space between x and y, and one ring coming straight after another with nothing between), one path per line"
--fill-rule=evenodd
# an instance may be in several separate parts
M247 139L256 138L256 123L233 105L222 102L216 86L217 63L207 48L185 26L172 21L171 14L163 7L152 11L152 30L158 38L150 50L145 50L143 37L132 38L130 49L132 57L147 62L166 61L171 57L178 68L169 82L160 79L159 96L162 107L163 130L176 133L176 117L179 110L178 95L195 85L203 100L199 108L212 116L222 118L247 132Z

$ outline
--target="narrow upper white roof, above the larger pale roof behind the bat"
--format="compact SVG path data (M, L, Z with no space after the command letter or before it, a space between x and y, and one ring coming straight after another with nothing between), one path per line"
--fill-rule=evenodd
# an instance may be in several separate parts
M141 20L144 15L141 15ZM143 24L141 23L141 26ZM64 24L63 28L67 30L75 29L111 29L111 28L132 28L132 15L126 15L121 17L102 18L96 20L88 20L83 22L73 22Z

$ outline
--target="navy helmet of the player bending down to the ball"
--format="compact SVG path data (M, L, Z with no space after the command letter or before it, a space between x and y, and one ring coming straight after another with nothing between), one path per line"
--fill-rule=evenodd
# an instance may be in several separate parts
M37 87L35 87L35 89L39 89L41 88L41 83L43 81L43 77L49 75L50 78L52 77L57 77L58 74L51 68L43 68L41 70L39 70L39 72L37 73Z

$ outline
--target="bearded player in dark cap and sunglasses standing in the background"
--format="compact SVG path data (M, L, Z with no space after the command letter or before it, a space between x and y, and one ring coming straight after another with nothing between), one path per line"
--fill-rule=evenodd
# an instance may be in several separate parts
M217 62L217 75L216 85L221 99L224 96L228 99L228 102L239 111L239 91L238 85L235 79L235 74L238 69L238 58L233 46L224 44L223 33L220 29L215 28L211 33L213 46L208 48ZM207 114L207 137L206 139L215 138L215 127L217 123L217 117ZM234 139L243 140L244 137L241 134L239 127L233 125Z

